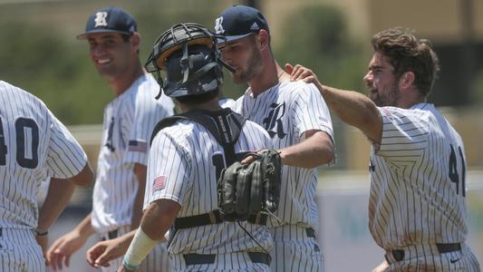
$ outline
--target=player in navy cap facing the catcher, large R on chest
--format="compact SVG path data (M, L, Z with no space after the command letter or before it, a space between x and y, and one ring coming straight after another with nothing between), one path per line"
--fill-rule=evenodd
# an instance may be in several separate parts
M324 100L313 84L291 83L270 48L265 17L255 8L234 5L218 16L225 36L223 60L235 68L235 83L248 83L234 109L263 126L281 151L282 189L278 219L269 219L274 238L272 271L323 271L315 238L317 166L333 160L333 128Z

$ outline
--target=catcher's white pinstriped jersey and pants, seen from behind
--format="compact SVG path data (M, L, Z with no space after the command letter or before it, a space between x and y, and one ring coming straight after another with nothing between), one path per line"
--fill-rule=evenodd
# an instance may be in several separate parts
M224 109L220 112L231 112ZM233 114L233 113L229 113ZM213 120L229 126L227 113ZM271 146L266 131L246 121L235 152L244 154ZM144 208L152 201L170 199L181 206L179 218L206 214L217 209L217 180L226 167L225 151L213 135L195 121L177 121L157 134L152 142ZM252 262L248 252L272 247L265 226L247 221L227 222L170 231L169 257L174 271L268 271L268 266ZM189 256L212 255L200 264ZM188 264L193 261L194 264Z

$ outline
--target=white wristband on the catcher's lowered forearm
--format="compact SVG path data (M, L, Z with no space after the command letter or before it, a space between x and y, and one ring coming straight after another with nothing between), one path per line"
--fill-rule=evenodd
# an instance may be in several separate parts
M158 241L151 239L141 228L138 228L136 235L132 238L130 242L130 248L124 256L124 260L127 261L131 266L139 266L144 260L152 248L158 244Z

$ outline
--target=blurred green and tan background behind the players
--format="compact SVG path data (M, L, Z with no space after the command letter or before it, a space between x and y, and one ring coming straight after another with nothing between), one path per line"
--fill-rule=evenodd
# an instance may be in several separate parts
M405 26L430 39L441 65L430 102L465 141L469 244L483 262L483 1L0 0L0 80L40 97L69 125L95 168L102 109L114 93L93 67L87 43L75 39L88 16L106 5L127 10L138 22L144 61L155 39L172 24L194 22L213 29L217 15L233 4L252 5L266 15L280 64L302 63L341 89L365 92L362 76L372 57L372 34ZM227 97L236 99L246 89L231 83L229 75L225 82ZM335 117L333 127L337 163L321 168L318 194L326 271L371 271L383 256L367 228L369 144L360 131ZM52 240L90 211L91 193L92 188L77 190L53 226ZM72 268L65 271L88 271L84 252L72 257Z

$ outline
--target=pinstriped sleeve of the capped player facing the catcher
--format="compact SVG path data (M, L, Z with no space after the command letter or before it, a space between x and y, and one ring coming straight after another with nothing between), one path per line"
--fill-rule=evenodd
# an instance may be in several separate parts
M329 109L314 84L297 84L294 92L294 122L299 137L305 131L325 131L333 140L333 127Z

